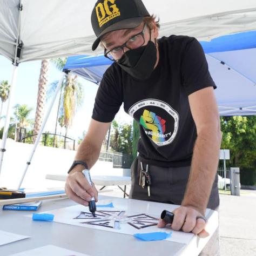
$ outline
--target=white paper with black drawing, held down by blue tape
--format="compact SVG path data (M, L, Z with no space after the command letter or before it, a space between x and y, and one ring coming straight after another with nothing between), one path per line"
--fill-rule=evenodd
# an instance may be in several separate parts
M116 209L116 208L98 208L97 210L98 211L122 211L122 209ZM44 213L54 214L55 217L54 217L53 221L55 221L57 223L64 223L64 224L87 227L87 228L95 228L97 230L104 230L104 231L115 232L115 233L133 235L133 234L136 234L136 233L150 233L150 232L170 233L170 232L172 232L171 237L167 238L166 240L174 241L174 242L180 242L182 244L188 244L190 242L190 240L192 239L193 235L194 235L192 233L184 233L184 232L181 232L181 231L174 231L174 230L171 230L171 228L168 228L168 227L158 228L157 226L149 226L149 227L144 227L144 228L141 228L141 229L137 229L137 228L131 226L130 224L127 224L127 220L126 221L120 220L120 222L119 222L120 229L98 226L98 225L94 225L94 224L83 224L83 222L87 222L87 221L90 221L90 220L93 221L93 220L96 220L96 219L74 219L81 212L90 213L89 208L85 207L85 206L82 206L82 205L75 205L75 206L60 208L58 210L51 210L49 212L44 212ZM136 214L143 214L143 213L125 211L123 217L126 218L127 216L132 216L132 215L136 215ZM159 218L158 216L153 215L153 214L147 213L147 215L149 215L150 217ZM31 216L31 215L29 215L29 216ZM158 223L158 220L155 221L155 222ZM153 221L152 221L152 223L153 223Z

